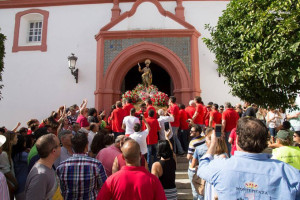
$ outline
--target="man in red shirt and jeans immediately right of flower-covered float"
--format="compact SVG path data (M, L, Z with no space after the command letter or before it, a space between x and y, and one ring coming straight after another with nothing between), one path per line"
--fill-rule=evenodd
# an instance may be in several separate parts
M174 152L177 152L179 155L183 155L184 151L182 149L181 143L178 139L178 129L180 125L179 121L179 107L176 104L176 97L170 96L169 99L169 109L168 112L174 116L174 122L171 122L173 138L174 138ZM176 149L177 147L177 149ZM178 151L177 151L178 150Z

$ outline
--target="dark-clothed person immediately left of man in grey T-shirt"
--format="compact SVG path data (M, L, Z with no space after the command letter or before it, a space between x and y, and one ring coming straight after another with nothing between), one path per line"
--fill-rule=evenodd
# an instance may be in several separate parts
M28 175L27 158L28 152L26 152L26 140L23 135L18 135L18 142L12 148L12 159L14 163L15 176L19 184L19 188L16 191L16 200L25 199L25 183Z

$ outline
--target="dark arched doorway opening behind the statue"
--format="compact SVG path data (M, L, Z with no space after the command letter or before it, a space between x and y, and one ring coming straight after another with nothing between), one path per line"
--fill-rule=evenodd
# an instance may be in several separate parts
M140 63L141 67L145 67L144 63ZM173 83L170 75L159 65L151 62L150 69L152 72L152 84L155 85L159 91L166 93L168 96L173 95ZM138 65L133 66L126 74L121 92L133 90L139 83L142 83L142 73L138 70Z

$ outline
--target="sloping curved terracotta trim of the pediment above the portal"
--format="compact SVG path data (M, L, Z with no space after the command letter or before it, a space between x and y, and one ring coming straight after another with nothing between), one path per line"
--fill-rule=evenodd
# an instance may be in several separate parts
M116 20L108 23L106 26L104 26L100 31L108 31L109 29L111 29L112 27L114 27L116 24L118 24L119 22L123 21L124 19L131 17L135 14L137 7L144 2L151 2L153 3L158 11L160 12L161 15L165 16L165 17L169 17L171 19L173 19L174 21L178 22L179 24L181 24L182 26L184 26L187 29L194 29L194 27L192 25L190 25L189 23L185 22L183 19L180 19L178 17L176 17L173 13L166 11L161 4L157 1L157 0L137 0L130 11L126 11L125 13L123 13L119 18L117 18Z

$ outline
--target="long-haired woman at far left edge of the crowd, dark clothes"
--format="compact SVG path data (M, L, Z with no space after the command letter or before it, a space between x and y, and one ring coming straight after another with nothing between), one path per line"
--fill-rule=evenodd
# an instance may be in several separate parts
M5 175L10 199L14 199L14 193L18 189L18 181L15 177L14 164L12 160L12 146L18 142L17 134L12 131L6 131L3 134L6 137L6 142L2 146L3 152L0 155L0 171Z

